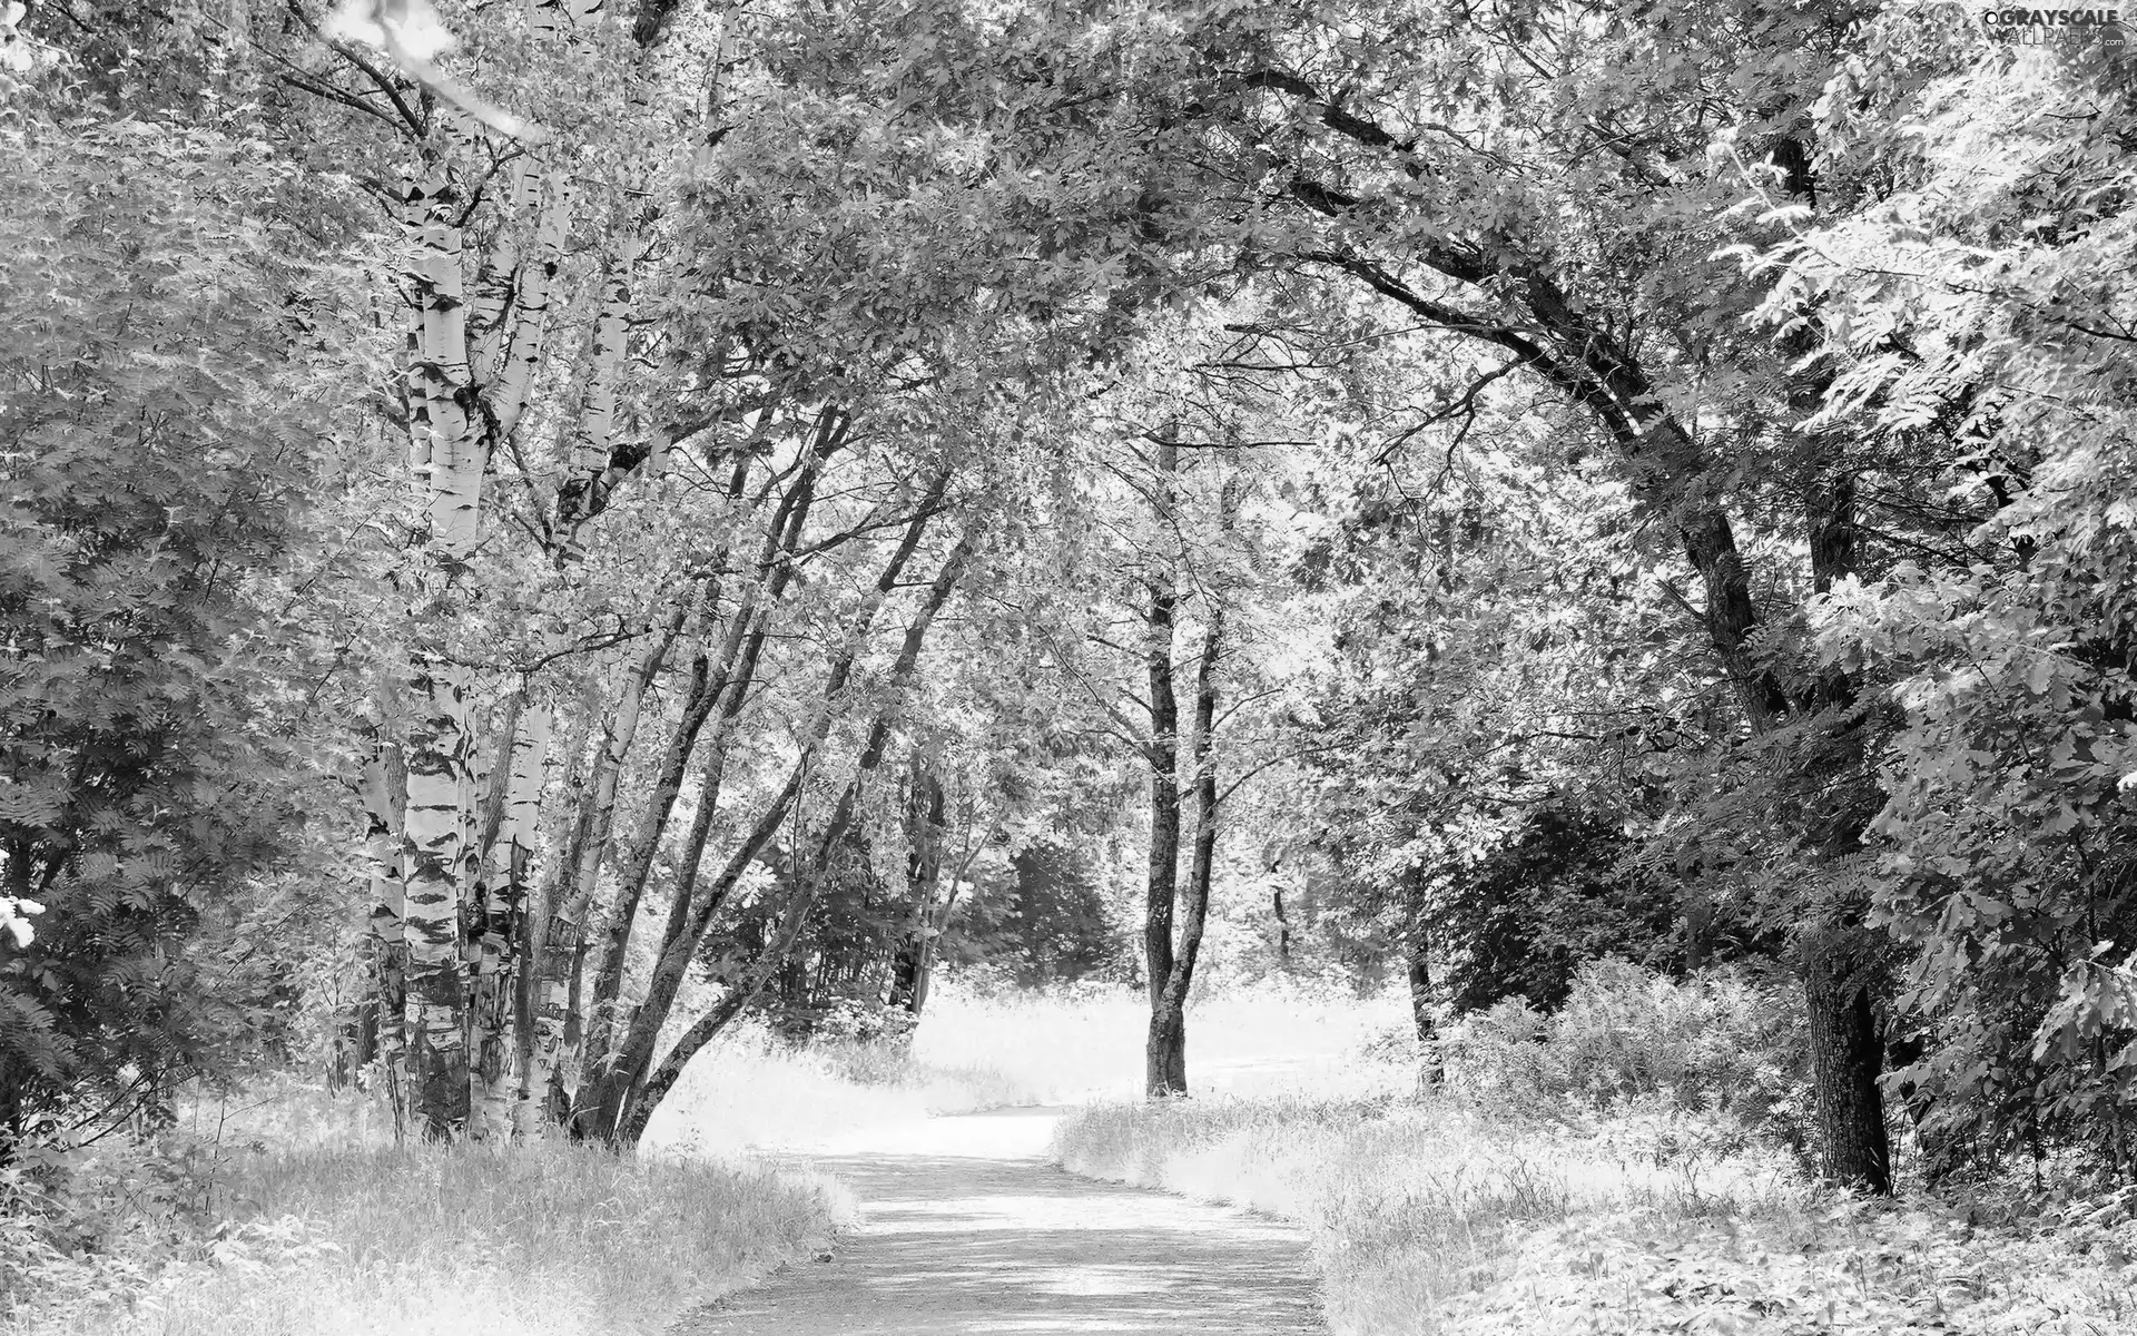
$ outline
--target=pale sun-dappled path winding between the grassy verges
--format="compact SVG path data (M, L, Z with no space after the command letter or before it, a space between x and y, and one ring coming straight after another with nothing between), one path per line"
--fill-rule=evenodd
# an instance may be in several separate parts
M861 1199L801 1263L675 1336L1297 1336L1323 1332L1304 1236L1045 1163L1060 1109L934 1118L808 1165Z

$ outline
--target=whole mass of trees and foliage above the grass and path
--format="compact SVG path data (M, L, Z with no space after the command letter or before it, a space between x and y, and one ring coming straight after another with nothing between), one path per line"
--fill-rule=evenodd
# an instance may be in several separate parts
M9 6L0 1124L299 1013L630 1141L945 958L1182 1092L1207 934L1761 960L1834 1178L2128 1171L2137 109L2005 28Z

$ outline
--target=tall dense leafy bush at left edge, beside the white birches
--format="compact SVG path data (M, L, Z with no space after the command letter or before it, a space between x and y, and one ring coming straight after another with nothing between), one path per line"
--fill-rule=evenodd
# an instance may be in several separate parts
M299 186L261 145L6 96L0 1159L156 1107L259 1020L267 962L192 947L291 851L318 665L276 573L316 485L306 400L361 374L286 259L321 239L263 218Z

